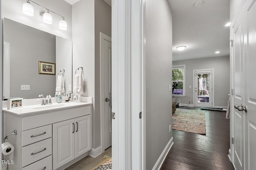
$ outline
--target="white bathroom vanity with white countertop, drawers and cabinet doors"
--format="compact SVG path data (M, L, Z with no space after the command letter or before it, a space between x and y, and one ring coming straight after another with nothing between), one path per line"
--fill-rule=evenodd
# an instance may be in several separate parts
M3 109L4 135L14 146L8 170L62 170L91 150L91 102Z

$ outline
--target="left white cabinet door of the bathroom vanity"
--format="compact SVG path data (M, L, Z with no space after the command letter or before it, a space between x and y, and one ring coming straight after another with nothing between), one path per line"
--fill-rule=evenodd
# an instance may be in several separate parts
M74 155L74 119L53 124L53 169L68 163Z

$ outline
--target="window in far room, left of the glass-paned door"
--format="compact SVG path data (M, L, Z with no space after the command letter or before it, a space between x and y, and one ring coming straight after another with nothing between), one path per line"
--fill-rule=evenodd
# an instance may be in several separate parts
M172 95L185 96L185 65L172 66Z

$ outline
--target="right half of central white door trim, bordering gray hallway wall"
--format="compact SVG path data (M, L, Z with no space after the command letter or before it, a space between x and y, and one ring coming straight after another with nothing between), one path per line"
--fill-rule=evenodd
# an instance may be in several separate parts
M145 89L145 35L143 0L131 0L131 169L145 170L144 127L146 109ZM139 113L142 111L142 119Z

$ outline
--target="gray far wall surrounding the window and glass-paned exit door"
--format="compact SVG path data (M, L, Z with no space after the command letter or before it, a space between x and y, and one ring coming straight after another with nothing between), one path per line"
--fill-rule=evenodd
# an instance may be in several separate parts
M193 70L214 68L214 106L227 107L230 92L230 64L229 56L212 57L205 59L192 59L173 61L172 65L186 64L186 97L173 97L173 102L180 104L194 104L193 99ZM191 86L192 88L189 88Z

